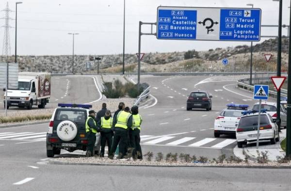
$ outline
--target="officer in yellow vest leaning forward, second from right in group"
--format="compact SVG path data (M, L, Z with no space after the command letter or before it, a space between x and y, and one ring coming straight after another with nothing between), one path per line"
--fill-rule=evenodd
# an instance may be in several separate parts
M119 155L116 159L123 159L125 156L125 147L128 142L128 131L132 126L132 115L129 112L129 108L125 108L124 111L119 111L116 117L113 119L114 136L113 145L110 149L109 158L113 159L115 150L119 143Z

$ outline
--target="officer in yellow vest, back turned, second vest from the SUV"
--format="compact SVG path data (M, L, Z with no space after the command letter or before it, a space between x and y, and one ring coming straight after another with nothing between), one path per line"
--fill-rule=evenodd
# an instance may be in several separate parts
M112 146L112 137L113 137L113 129L112 129L113 118L111 116L110 110L105 111L105 116L101 117L100 121L98 121L98 126L100 126L100 134L101 134L101 151L100 157L104 157L105 153L105 145L107 142L108 145L108 153L110 153L110 149Z

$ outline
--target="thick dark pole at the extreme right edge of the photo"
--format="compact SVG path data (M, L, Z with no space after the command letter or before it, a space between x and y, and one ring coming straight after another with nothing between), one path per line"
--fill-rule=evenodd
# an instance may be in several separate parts
M288 87L291 87L291 30L289 31ZM286 157L291 157L291 88L288 88L287 97L289 98L287 98Z

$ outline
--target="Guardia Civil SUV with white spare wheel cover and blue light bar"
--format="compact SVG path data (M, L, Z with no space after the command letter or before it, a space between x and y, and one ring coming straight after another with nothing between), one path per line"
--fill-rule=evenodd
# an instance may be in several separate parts
M92 105L58 104L49 121L47 156L59 155L61 149L69 152L86 151L86 119Z

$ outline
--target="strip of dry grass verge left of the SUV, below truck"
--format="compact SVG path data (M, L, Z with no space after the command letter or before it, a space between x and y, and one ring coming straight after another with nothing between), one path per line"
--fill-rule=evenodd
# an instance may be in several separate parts
M41 115L27 115L27 116L4 116L0 117L0 124L5 123L16 123L24 121L35 121L35 120L45 120L51 118L51 114L41 114Z

